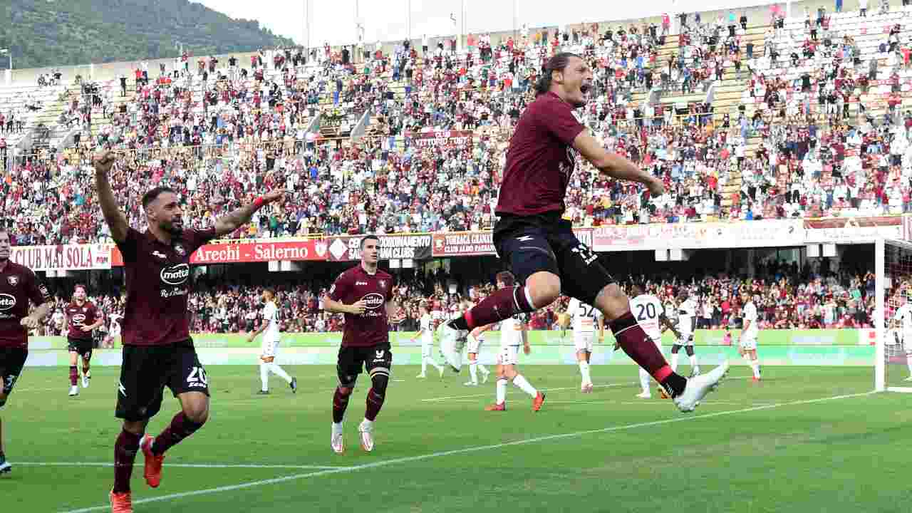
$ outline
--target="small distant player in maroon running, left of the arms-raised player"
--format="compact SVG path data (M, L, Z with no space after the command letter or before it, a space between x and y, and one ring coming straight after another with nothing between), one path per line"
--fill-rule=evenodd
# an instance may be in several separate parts
M73 301L64 309L67 317L67 349L69 349L69 396L79 394L77 385L79 370L78 358L82 358L82 388L88 388L92 379L89 362L92 360L92 330L104 323L98 314L98 308L86 298L86 286L77 285L73 289Z

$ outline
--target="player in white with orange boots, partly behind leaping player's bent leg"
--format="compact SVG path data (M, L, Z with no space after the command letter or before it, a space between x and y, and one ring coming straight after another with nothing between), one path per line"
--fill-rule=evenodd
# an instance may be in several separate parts
M516 287L516 278L510 271L497 273L498 285L503 287ZM544 403L544 393L535 390L535 387L529 383L523 374L516 370L519 364L519 346L523 344L523 352L529 354L532 347L529 345L529 338L526 336L525 314L517 314L511 318L501 321L501 352L497 357L497 393L493 404L486 406L484 409L489 412L503 412L507 409L507 382L513 381L524 393L532 396L532 410L537 412L542 409Z

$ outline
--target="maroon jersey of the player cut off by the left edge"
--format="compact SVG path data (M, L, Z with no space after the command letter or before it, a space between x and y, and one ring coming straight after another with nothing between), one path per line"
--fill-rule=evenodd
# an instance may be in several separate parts
M0 271L0 348L28 347L28 330L19 324L28 315L28 302L37 307L50 300L32 269L7 260Z

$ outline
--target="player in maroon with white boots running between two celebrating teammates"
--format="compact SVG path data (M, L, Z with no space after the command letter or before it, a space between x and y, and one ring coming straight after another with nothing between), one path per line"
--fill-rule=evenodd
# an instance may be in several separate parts
M336 454L345 452L342 420L348 398L355 390L361 368L370 374L367 409L358 425L361 447L374 450L374 420L383 407L389 384L393 355L389 351L389 318L396 311L393 301L393 279L377 268L379 238L361 239L361 263L340 274L324 298L324 308L345 314L342 347L336 366L339 384L333 394L333 426L330 445Z

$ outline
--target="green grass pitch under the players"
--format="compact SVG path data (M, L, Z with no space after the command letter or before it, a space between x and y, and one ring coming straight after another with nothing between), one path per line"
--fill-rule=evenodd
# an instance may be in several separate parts
M394 369L376 448L358 444L366 376L349 403L345 455L329 448L335 369L287 367L254 395L254 366L212 366L212 416L171 449L161 487L133 473L138 513L231 512L858 512L907 511L912 408L870 394L873 369L736 366L694 414L634 397L637 370L596 366L595 393L574 366L528 366L547 392L541 412L511 386L506 412L484 412L493 382ZM687 372L688 368L684 367ZM119 422L117 369L96 368L67 397L66 368L26 368L2 411L11 474L3 511L109 511ZM166 397L157 434L177 411Z

